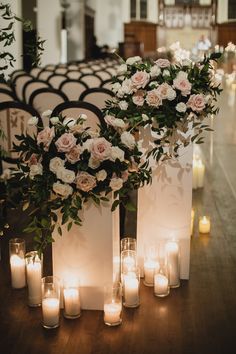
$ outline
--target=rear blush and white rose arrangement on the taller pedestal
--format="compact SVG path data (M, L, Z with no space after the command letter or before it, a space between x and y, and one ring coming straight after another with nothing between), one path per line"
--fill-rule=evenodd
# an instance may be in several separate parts
M112 90L115 99L107 103L106 121L123 120L129 131L150 126L152 155L157 161L178 157L179 148L203 142L202 133L211 130L204 119L216 114L220 81L215 76L212 53L199 63L189 59L170 63L131 57L118 68ZM194 133L192 133L194 131Z

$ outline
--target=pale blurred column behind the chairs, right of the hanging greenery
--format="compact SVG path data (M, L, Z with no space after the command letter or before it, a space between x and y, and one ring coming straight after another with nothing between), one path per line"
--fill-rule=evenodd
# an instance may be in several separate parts
M42 66L60 62L61 6L59 0L37 0L37 30L46 40Z

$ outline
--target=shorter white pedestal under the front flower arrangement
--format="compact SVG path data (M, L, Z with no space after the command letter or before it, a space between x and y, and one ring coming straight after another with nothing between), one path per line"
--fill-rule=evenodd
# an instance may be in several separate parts
M80 216L82 226L69 232L63 226L62 236L54 231L53 275L79 278L81 307L103 310L104 285L119 272L119 208L111 212L111 202L87 203Z

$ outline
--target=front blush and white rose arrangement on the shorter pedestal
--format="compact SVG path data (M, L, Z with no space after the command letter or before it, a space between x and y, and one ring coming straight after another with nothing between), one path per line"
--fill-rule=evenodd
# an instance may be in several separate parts
M32 117L28 124L37 122ZM51 117L50 123L33 137L17 136L14 150L20 162L8 180L10 187L18 187L23 209L32 209L25 231L35 234L39 251L53 241L55 227L62 234L57 210L70 230L73 223L81 225L84 203L107 202L113 192L112 210L121 202L129 208L127 192L150 181L149 171L140 166L142 154L133 135L119 125L123 121L96 131L86 127L84 114L78 119Z

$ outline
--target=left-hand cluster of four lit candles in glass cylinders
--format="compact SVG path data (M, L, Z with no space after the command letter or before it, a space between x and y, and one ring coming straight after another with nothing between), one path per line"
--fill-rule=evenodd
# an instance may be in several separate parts
M42 305L43 326L59 326L60 292L63 289L64 316L80 316L79 283L73 279L64 282L63 287L55 276L42 277L43 258L37 251L25 253L25 241L14 238L9 241L11 284L14 289L28 286L28 305Z

